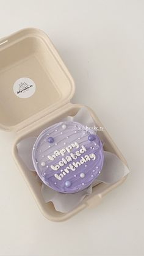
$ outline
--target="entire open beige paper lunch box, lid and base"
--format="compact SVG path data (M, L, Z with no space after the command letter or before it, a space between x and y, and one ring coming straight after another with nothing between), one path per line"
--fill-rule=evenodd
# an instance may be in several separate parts
M120 185L100 183L90 196L69 213L56 211L53 204L45 203L41 183L18 156L16 145L21 139L38 136L42 130L59 122L67 115L75 115L82 108L72 104L74 81L48 36L38 29L23 29L0 40L0 126L15 131L13 158L23 174L41 213L51 221L65 221L86 207L93 207L107 192ZM32 87L31 87L32 84ZM25 90L26 86L29 90ZM103 126L91 109L88 111L98 126ZM120 150L106 130L99 132L105 142L104 150L115 153L127 165Z

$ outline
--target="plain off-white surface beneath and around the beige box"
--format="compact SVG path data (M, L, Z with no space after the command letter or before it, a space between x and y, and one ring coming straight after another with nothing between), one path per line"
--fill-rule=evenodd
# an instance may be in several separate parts
M10 157L16 135L1 131L1 256L144 255L143 12L140 0L0 0L0 37L48 33L76 82L73 102L94 109L131 169L97 208L50 222Z

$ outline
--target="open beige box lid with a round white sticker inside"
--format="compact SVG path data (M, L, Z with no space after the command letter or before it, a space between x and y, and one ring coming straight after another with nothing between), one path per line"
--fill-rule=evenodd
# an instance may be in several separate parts
M23 29L0 40L0 128L21 130L70 102L74 90L44 32Z

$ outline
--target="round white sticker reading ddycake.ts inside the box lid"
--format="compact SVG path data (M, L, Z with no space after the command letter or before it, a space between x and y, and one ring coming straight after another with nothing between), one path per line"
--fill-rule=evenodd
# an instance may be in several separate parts
M35 93L35 83L30 78L20 78L15 81L13 92L19 98L29 98Z

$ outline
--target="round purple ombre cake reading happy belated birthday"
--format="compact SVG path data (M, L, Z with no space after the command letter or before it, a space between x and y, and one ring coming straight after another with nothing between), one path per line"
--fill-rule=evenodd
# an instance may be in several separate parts
M103 167L103 144L77 122L56 123L37 137L32 160L45 185L62 193L87 188Z

